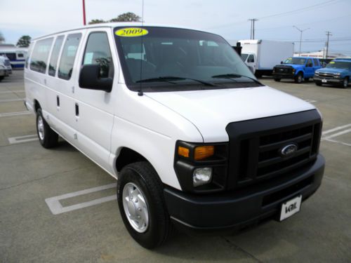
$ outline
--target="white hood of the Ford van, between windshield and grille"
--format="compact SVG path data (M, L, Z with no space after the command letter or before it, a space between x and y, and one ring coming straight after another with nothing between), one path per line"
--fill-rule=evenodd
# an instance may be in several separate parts
M228 123L315 109L304 100L267 86L144 95L192 122L204 142L227 142Z

